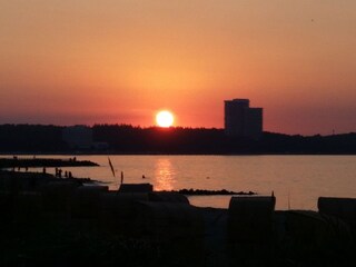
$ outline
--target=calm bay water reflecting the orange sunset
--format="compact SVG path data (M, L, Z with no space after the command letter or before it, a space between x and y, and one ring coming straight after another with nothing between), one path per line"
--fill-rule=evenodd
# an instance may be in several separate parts
M47 156L68 158L69 156ZM77 156L100 167L63 168L117 189L125 182L150 182L156 190L182 188L275 192L277 209L317 210L319 196L356 197L356 156ZM53 171L51 169L48 172ZM145 175L146 179L142 179ZM230 197L190 197L197 206L228 207Z

